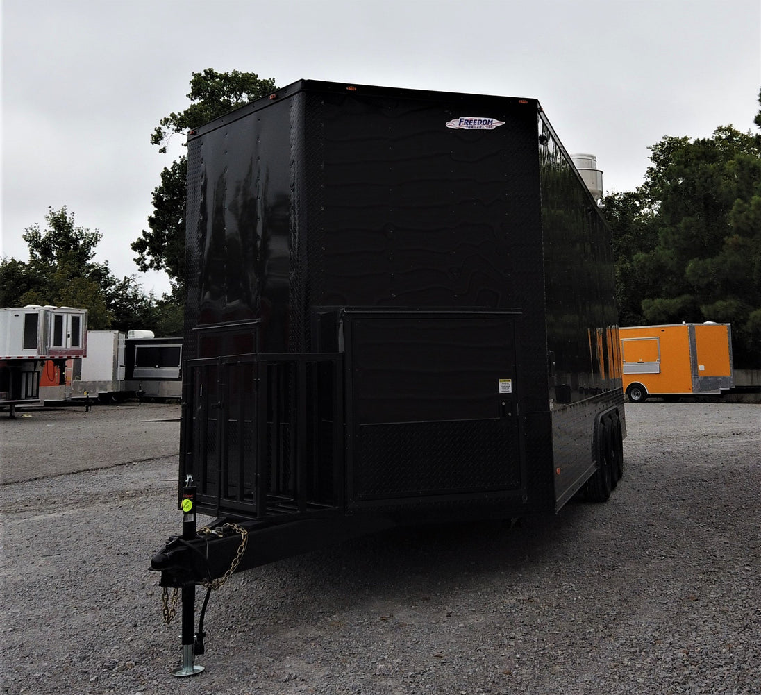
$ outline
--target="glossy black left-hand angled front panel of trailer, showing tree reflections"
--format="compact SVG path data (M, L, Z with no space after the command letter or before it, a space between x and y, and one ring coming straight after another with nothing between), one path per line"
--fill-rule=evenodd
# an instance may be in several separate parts
M263 340L275 350L288 326L290 111L273 104L190 143L199 149L189 167L189 201L200 209L198 225L189 225L187 280L196 323L261 318Z

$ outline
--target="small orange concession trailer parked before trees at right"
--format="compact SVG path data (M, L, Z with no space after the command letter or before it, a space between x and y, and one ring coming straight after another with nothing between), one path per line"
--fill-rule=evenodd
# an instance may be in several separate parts
M623 387L632 403L648 396L719 396L734 387L730 324L619 328Z

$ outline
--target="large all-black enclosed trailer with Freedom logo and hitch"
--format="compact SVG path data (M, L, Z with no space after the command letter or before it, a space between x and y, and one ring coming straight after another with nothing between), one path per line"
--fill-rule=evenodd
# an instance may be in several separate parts
M537 100L291 84L190 133L186 241L164 587L615 486L610 233Z

